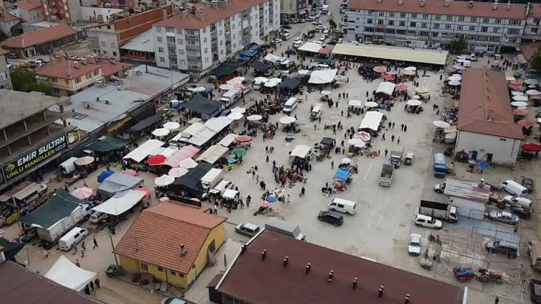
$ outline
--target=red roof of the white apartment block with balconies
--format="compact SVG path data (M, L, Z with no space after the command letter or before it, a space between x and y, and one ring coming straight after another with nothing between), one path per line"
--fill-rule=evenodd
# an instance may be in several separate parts
M220 5L218 8L212 8L203 3L197 3L195 5L196 8L201 8L204 11L204 17L202 19L197 18L192 12L189 12L188 16L186 17L176 15L167 19L166 21L156 23L155 26L199 30L207 25L216 23L223 18L233 16L236 13L245 11L265 1L266 0L229 0L229 8L224 8Z

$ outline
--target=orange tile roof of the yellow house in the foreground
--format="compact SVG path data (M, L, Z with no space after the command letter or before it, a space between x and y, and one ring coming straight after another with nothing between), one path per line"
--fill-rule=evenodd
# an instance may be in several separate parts
M226 218L162 202L144 210L118 242L114 253L188 273L213 228ZM186 255L181 256L181 245ZM220 244L216 244L219 246Z

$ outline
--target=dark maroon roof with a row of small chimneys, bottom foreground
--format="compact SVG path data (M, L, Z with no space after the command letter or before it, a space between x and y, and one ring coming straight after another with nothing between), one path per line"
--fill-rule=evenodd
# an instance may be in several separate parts
M308 263L311 271L306 274ZM327 282L331 270L333 280ZM353 278L358 279L355 289ZM385 287L382 298L380 285ZM406 294L417 304L460 304L463 298L458 286L270 231L247 246L217 289L253 304L397 304L404 303Z

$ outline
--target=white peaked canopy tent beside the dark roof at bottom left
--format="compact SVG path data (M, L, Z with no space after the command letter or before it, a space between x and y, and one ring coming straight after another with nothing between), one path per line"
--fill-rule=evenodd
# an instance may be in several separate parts
M51 269L45 274L45 278L78 292L82 291L97 276L97 273L85 271L73 264L64 255L61 255L56 260L55 265L52 265Z

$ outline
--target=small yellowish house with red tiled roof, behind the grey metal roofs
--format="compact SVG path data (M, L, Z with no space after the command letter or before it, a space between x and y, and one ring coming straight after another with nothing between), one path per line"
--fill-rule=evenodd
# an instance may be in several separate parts
M78 60L57 60L49 62L36 72L38 82L48 83L55 95L71 96L96 82L110 82L123 78L131 64L116 62L114 59L89 56Z

